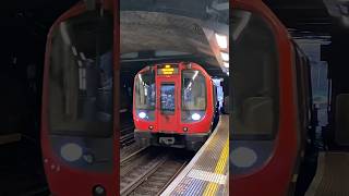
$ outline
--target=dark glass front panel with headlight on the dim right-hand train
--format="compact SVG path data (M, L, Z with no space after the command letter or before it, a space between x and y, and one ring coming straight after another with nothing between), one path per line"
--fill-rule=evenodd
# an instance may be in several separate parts
M273 29L258 14L234 9L230 27L230 171L239 175L261 169L272 156L278 128L278 51Z

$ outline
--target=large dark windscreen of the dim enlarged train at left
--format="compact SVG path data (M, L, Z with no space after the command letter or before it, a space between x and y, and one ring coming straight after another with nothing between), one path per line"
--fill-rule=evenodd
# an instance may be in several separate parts
M112 16L86 12L61 22L51 40L49 119L53 134L112 133Z

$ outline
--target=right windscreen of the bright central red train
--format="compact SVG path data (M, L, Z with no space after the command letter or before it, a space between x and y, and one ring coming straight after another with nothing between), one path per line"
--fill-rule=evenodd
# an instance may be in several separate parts
M182 110L206 109L206 83L200 71L182 72Z

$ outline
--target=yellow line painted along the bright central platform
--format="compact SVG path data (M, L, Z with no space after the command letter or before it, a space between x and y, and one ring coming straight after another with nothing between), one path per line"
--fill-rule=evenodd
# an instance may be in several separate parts
M227 138L226 143L225 143L225 147L224 149L221 150L220 152L220 156L219 156L219 159L218 159L218 163L215 168L215 173L218 173L218 174L222 174L226 167L227 167L227 163L228 163L228 156L229 156L229 137ZM218 184L217 183L213 183L210 182L206 188L205 188L205 192L204 192L204 196L212 196L212 195L215 195L217 189L218 189Z

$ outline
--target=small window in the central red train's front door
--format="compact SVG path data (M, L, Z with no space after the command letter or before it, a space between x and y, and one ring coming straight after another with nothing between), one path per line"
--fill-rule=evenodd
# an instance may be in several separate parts
M174 84L161 84L161 111L174 111Z

